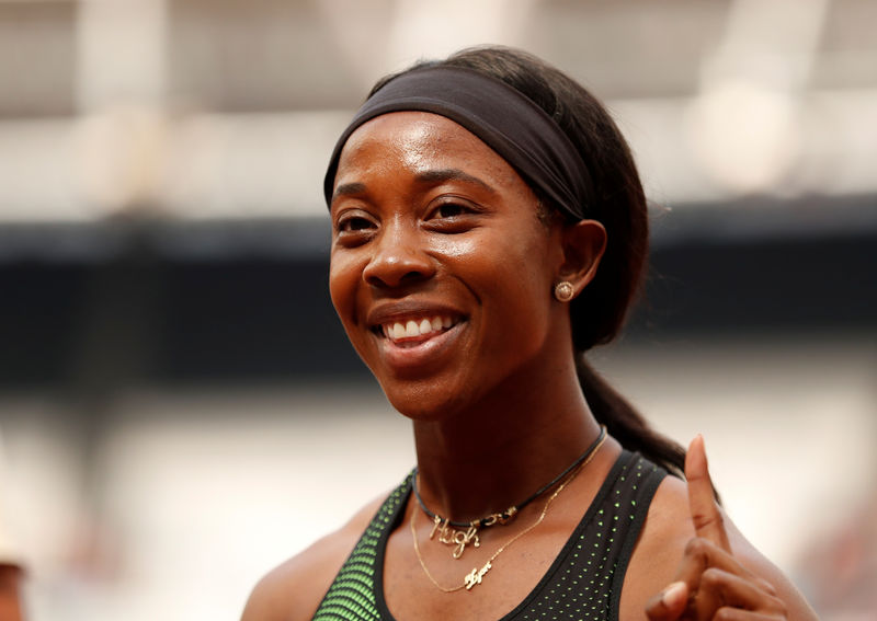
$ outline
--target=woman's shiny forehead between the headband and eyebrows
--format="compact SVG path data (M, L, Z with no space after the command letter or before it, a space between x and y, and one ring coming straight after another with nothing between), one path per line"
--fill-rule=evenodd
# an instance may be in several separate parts
M496 177L499 183L522 183L514 169L477 136L428 112L394 112L364 123L344 143L335 183L349 173L388 166L411 172L449 166Z

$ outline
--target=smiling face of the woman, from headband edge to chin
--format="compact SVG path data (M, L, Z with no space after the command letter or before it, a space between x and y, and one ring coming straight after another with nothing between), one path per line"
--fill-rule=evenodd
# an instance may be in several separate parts
M562 312L551 300L559 227L539 221L529 187L456 123L400 112L360 127L331 218L332 302L401 413L453 415L547 361Z

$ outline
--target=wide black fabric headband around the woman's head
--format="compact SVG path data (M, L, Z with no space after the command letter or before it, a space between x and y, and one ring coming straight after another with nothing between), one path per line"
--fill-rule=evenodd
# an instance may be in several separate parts
M424 67L394 78L366 101L338 139L323 180L331 204L341 150L357 127L390 112L431 112L465 127L514 168L534 191L582 219L590 174L567 135L526 95L458 67Z

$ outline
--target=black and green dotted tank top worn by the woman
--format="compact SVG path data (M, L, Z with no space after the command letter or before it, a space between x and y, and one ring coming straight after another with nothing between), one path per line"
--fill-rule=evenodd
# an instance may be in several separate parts
M658 485L667 475L623 451L572 537L535 589L500 621L618 619L624 575ZM392 621L380 584L384 547L410 494L407 479L385 502L329 588L315 620Z

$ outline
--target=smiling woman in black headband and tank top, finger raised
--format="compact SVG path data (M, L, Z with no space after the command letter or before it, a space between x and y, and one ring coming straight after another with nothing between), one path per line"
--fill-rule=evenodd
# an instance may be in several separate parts
M725 518L703 441L686 457L583 359L647 254L593 96L506 48L415 66L372 91L324 191L332 301L418 467L244 621L816 618Z

